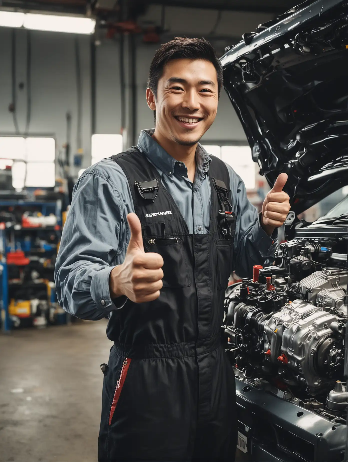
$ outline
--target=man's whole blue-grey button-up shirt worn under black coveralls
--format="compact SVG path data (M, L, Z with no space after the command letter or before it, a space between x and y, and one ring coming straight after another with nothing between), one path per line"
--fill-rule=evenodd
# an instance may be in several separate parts
M198 144L196 174L192 183L183 162L172 158L143 130L138 147L159 172L192 234L207 234L211 190L207 176L211 159ZM234 269L247 277L256 264L274 260L277 231L269 237L260 225L256 208L247 199L241 178L227 165L233 209L237 212ZM192 194L194 206L192 209ZM64 310L82 319L98 320L122 309L110 297L110 272L124 261L130 238L127 215L134 212L128 181L121 167L104 159L85 170L73 191L55 266L58 301ZM126 309L126 307L124 308Z

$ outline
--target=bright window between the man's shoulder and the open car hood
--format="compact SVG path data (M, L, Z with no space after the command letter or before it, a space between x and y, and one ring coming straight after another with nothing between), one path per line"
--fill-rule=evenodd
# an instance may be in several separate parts
M245 188L256 188L256 164L251 158L250 146L203 146L208 154L231 165L232 169L244 181Z

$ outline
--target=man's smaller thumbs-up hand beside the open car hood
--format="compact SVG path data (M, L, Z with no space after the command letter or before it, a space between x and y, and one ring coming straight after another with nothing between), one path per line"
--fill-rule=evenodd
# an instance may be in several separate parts
M284 224L290 212L290 197L283 191L286 182L287 174L281 173L263 202L262 227L269 236Z

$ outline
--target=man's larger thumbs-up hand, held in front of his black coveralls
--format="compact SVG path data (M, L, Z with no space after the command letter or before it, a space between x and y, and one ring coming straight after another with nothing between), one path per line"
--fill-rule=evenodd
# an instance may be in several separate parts
M159 298L163 287L163 258L159 254L145 253L141 223L135 213L128 214L130 241L122 265L110 273L111 298L125 295L135 303L151 302Z

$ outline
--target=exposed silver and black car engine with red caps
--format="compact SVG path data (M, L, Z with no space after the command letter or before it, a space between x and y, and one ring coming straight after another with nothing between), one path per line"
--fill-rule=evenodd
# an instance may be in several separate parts
M345 423L348 271L332 245L282 243L275 266L227 289L224 328L237 379Z

